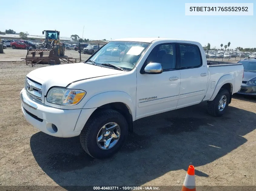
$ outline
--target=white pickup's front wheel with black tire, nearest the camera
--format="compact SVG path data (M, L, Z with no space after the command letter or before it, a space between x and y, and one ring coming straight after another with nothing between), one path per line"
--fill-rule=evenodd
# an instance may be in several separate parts
M80 134L82 148L92 157L103 159L114 155L125 143L128 123L115 110L100 110L93 114Z

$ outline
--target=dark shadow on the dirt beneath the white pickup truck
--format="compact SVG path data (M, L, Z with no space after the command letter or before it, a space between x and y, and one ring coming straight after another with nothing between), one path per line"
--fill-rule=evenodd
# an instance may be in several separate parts
M30 139L38 165L58 185L141 185L173 170L213 162L244 144L255 129L255 113L229 107L212 117L206 104L139 119L127 144L112 158L88 156L79 137L57 138L42 132ZM251 124L251 125L250 125ZM184 171L185 173L185 171ZM207 172L196 171L207 177Z

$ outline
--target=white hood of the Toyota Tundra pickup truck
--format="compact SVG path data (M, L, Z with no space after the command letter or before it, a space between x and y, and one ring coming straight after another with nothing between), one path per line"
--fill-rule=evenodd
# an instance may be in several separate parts
M28 73L27 77L41 84L45 84L45 90L47 91L52 86L66 87L75 81L125 72L81 62L38 68Z

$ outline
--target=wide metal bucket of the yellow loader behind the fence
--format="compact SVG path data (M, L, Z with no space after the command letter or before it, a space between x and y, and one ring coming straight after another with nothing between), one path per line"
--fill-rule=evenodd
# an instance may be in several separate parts
M32 60L29 59L32 63L37 63L41 60L41 64L60 64L58 56L57 49L30 49L26 58L32 58Z

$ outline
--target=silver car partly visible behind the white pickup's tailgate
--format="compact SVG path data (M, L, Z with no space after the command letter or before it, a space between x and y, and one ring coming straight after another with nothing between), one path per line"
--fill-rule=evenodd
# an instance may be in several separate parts
M238 94L256 96L256 59L244 59L239 63L244 66L244 78Z

